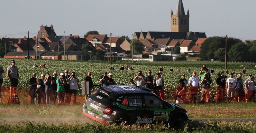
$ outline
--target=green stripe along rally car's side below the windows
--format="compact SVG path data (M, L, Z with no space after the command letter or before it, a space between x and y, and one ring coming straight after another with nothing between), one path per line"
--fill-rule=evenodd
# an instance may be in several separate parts
M113 105L116 105L116 102L112 103ZM172 105L171 108L144 108L144 107L129 107L129 106L125 106L122 104L118 105L121 108L124 108L126 110L146 110L146 111L163 111L163 112L167 112L167 111L173 111L175 106Z

